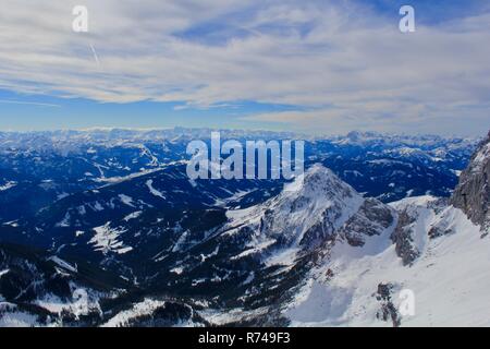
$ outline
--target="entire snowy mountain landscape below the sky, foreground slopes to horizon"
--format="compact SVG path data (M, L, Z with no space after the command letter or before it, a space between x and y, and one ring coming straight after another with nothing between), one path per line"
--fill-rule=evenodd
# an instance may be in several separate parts
M0 326L490 325L489 140L353 132L294 182L191 181L209 136L0 133Z

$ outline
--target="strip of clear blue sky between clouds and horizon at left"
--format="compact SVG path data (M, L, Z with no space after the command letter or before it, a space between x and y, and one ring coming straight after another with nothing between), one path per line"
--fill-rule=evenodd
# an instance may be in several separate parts
M86 98L57 98L0 91L2 131L90 128L160 129L231 128L283 130L275 122L250 122L250 113L301 110L301 107L235 101L212 108L183 108L182 103L99 103Z

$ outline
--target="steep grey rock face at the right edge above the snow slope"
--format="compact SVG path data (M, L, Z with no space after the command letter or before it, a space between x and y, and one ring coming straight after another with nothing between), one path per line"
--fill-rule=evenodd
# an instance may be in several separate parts
M451 203L461 208L469 219L490 231L490 133L471 157L468 168L461 174Z

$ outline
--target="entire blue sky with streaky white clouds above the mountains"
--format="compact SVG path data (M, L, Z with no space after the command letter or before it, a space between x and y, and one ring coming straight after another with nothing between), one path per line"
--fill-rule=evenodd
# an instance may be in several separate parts
M482 135L489 43L481 0L2 0L0 130Z

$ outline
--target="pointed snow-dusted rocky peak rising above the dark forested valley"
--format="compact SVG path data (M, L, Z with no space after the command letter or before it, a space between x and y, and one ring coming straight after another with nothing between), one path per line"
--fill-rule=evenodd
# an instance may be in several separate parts
M286 188L261 205L229 212L229 233L252 233L255 252L289 254L292 262L297 252L311 251L338 233L362 245L364 234L379 234L394 220L390 207L364 198L321 165L313 166L304 179L290 185L294 190Z

